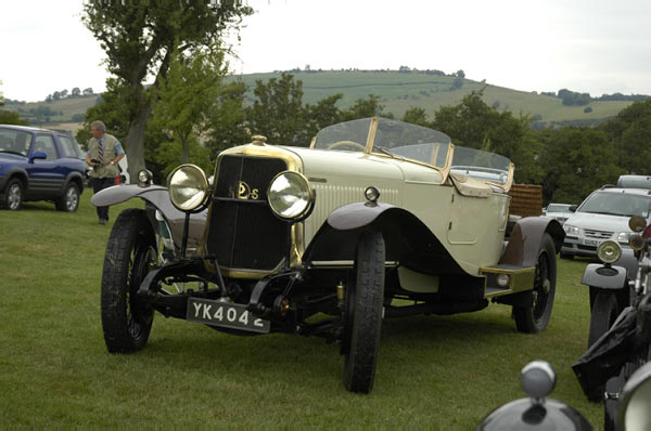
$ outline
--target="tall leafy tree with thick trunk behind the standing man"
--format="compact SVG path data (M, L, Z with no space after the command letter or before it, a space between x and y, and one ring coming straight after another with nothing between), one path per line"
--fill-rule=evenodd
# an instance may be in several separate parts
M131 178L144 167L144 132L152 110L145 79L154 77L157 88L175 52L218 45L225 31L251 13L238 1L84 3L82 22L105 51L108 71L125 89L128 133L124 141Z

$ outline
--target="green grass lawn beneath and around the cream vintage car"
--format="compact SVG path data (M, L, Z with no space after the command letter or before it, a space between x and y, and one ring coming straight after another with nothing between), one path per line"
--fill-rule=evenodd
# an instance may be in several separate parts
M91 193L68 214L46 203L0 210L0 428L319 428L471 430L524 396L520 369L549 361L552 397L602 428L571 365L585 351L586 262L559 261L551 323L515 331L510 308L388 319L369 395L342 384L343 357L319 338L228 336L156 315L149 344L106 352L100 323L107 226Z

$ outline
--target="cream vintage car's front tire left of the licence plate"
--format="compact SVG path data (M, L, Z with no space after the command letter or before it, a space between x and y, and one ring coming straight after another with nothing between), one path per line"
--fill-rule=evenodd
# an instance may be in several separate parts
M154 310L137 291L156 259L155 245L143 210L120 212L108 237L102 271L102 329L111 353L137 352L146 344Z

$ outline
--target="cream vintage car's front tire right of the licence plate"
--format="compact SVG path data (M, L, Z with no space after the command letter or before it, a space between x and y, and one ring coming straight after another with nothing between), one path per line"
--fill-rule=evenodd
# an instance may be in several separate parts
M365 233L357 245L355 286L347 292L344 386L368 393L373 388L384 301L384 238ZM352 318L350 318L352 317Z

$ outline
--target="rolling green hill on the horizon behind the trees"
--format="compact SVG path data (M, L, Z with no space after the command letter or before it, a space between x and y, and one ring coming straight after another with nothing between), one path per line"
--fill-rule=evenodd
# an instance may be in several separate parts
M280 73L273 73L233 76L230 79L241 79L248 86L247 102L251 103L256 80L266 82L270 78L279 77ZM489 106L499 110L510 110L514 115L528 114L545 126L564 122L596 125L615 116L631 103L597 101L587 106L565 106L559 97L511 90L470 79L463 79L460 88L454 88L457 78L422 71L301 71L294 74L294 79L303 81L304 103L312 104L328 95L342 93L340 107L345 108L358 99L375 94L385 105L385 112L393 113L397 118L412 106L424 108L431 118L439 106L456 105L471 91L481 89L484 89L484 101ZM91 95L52 103L12 103L3 108L18 112L33 125L77 123L73 117L86 113L95 101L97 95ZM37 117L30 109L39 107L47 107L54 114ZM587 107L591 108L591 112L585 113Z

